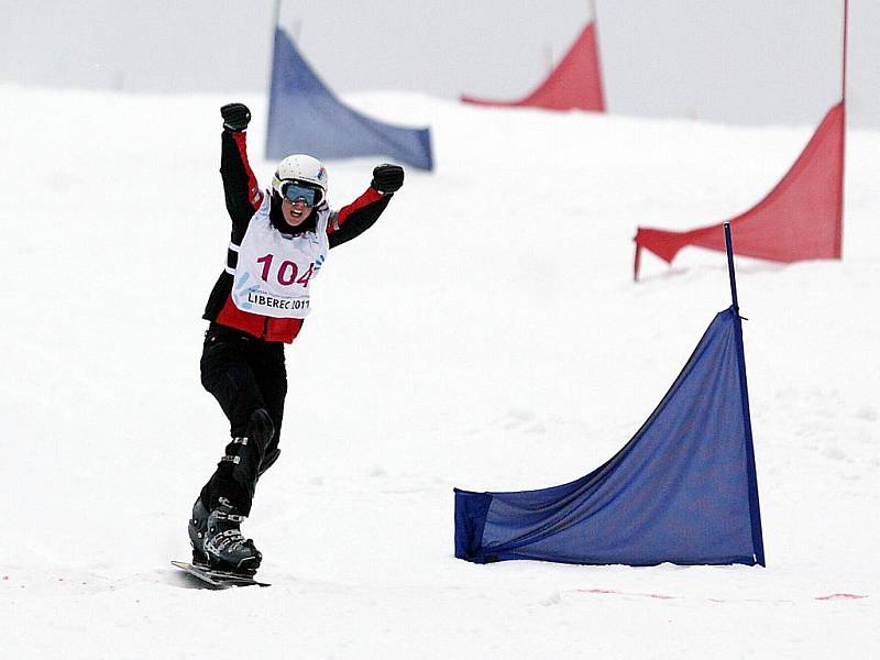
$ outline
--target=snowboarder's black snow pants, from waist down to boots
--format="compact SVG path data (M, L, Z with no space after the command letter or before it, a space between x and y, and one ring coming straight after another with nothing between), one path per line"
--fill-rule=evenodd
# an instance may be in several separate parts
M211 510L224 497L249 516L260 474L280 453L278 438L287 395L284 344L211 323L201 353L201 384L223 409L232 437L217 471L201 490L201 502ZM253 438L242 440L254 435L254 419L263 415L254 413L261 408L274 426L263 452Z

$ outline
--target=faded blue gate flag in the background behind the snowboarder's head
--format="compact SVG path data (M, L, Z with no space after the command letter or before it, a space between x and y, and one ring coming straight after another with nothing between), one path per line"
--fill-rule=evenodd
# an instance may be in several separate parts
M421 169L433 168L428 129L394 127L348 108L276 28L266 158L297 153L319 160L387 156Z

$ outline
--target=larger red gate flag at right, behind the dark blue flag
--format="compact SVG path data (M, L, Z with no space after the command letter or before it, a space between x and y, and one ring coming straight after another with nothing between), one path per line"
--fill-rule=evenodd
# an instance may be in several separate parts
M755 207L729 220L736 253L777 262L840 258L844 222L845 103L834 106L782 180ZM719 222L691 231L639 227L634 275L641 249L668 263L686 245L724 252Z

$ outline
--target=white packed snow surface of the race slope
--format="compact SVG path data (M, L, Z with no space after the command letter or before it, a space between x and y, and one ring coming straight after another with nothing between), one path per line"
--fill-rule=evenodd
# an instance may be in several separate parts
M730 300L724 255L636 227L749 208L815 124L744 129L348 97L430 124L333 250L287 349L283 455L244 531L271 588L191 588L228 425L199 383L229 219L220 116L266 99L0 88L0 657L868 658L880 645L880 133L849 131L843 261L738 258L766 569L475 565L453 486L571 481L639 428ZM383 161L330 162L339 208ZM734 235L736 242L736 235Z

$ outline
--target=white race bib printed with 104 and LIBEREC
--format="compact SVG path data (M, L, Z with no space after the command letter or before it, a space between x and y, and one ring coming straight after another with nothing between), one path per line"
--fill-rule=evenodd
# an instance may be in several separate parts
M316 232L288 237L270 220L271 198L263 196L263 204L251 218L239 246L232 301L251 314L304 319L310 310L311 280L330 249L327 239L330 209L326 205L320 210L312 209L312 213L318 213Z

